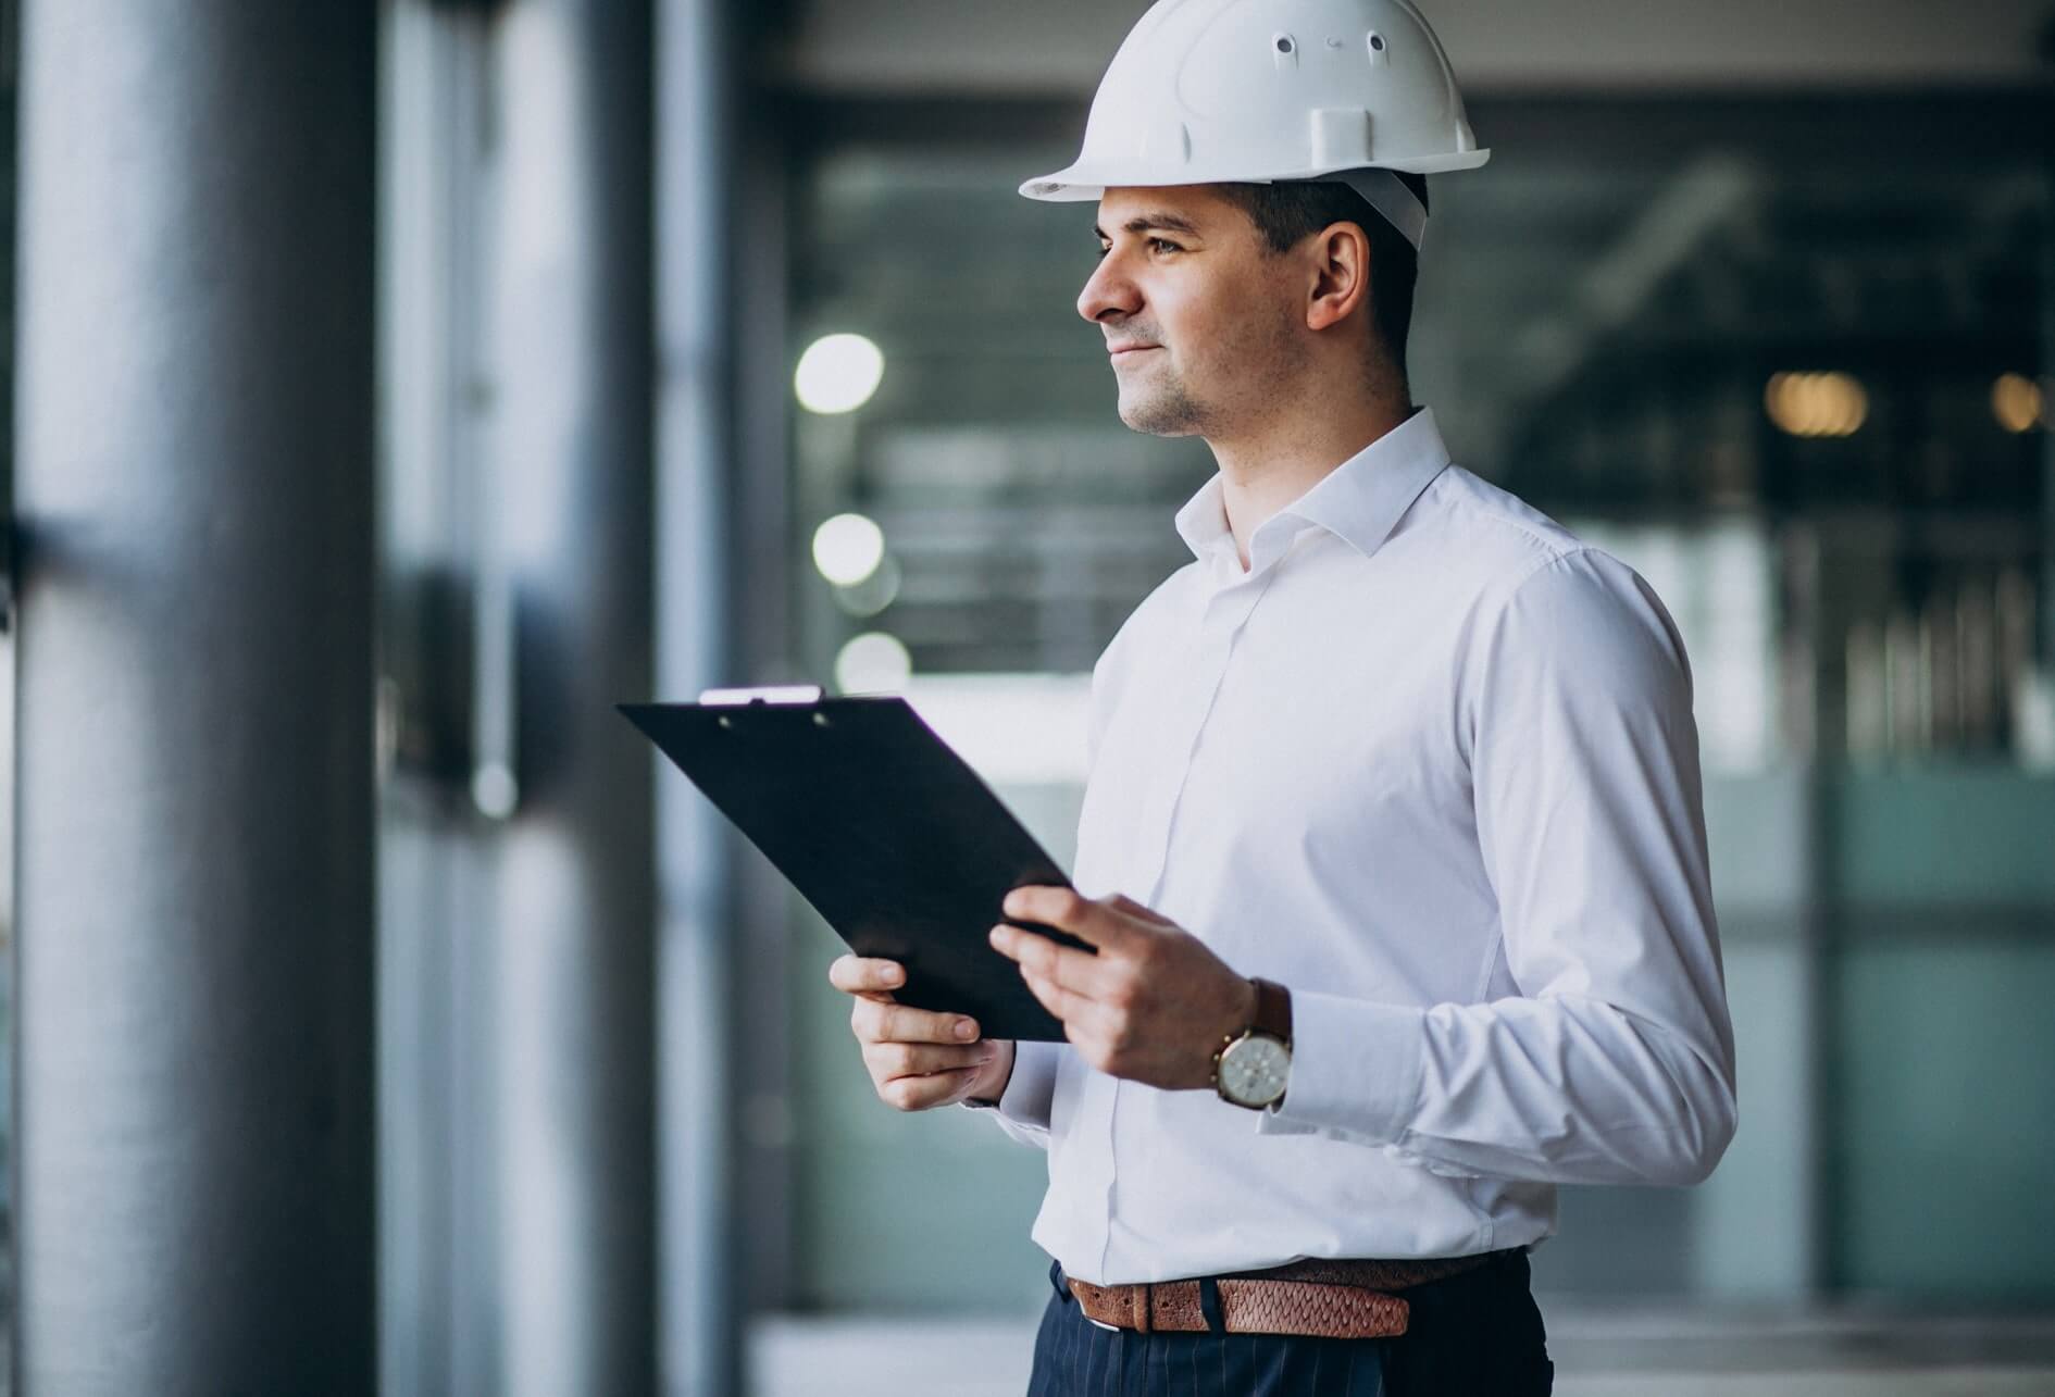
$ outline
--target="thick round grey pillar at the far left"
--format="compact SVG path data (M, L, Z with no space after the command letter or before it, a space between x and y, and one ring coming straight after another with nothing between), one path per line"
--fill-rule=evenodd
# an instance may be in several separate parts
M23 6L16 1391L374 1387L374 23Z

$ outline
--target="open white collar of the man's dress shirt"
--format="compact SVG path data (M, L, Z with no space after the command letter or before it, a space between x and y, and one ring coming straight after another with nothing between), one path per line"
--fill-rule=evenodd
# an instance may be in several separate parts
M1434 411L1422 407L1264 520L1249 538L1247 575L1282 557L1311 526L1325 528L1362 557L1371 557L1447 464L1449 448L1441 427L1434 425ZM1178 536L1200 563L1212 561L1219 569L1225 559L1231 571L1241 573L1235 538L1227 528L1219 470L1178 509Z

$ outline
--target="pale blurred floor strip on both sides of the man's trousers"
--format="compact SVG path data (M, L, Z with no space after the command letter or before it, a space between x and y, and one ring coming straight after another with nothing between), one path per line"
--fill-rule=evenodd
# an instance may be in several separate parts
M1558 1397L2055 1397L2055 1315L1545 1311ZM1032 1346L1032 1319L764 1319L750 1393L1019 1397Z

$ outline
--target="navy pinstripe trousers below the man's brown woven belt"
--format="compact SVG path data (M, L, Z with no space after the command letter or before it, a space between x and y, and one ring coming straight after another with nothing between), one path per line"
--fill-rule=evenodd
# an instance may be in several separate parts
M1395 1339L1101 1329L1060 1263L1048 1280L1028 1397L1547 1397L1554 1385L1521 1251L1408 1290Z

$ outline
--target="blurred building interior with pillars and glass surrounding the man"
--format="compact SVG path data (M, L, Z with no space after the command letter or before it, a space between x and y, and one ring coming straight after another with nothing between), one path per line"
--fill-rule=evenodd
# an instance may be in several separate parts
M1044 1157L619 701L900 690L1069 863L1186 561L1138 0L0 4L14 1391L1017 1393ZM2055 8L1441 0L1414 394L1693 659L1741 1130L1562 1393L2055 1391Z

